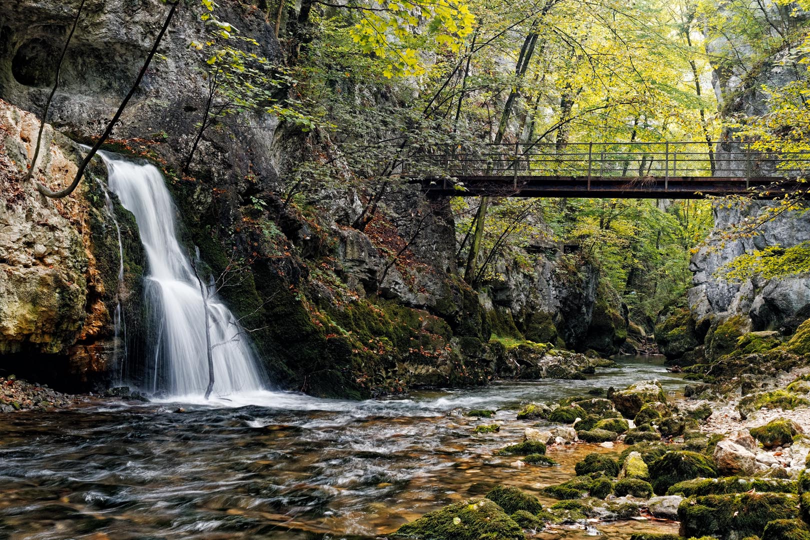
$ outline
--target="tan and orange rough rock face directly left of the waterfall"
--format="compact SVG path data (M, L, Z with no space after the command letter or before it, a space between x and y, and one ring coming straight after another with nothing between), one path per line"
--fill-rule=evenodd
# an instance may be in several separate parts
M37 381L87 388L108 375L113 351L126 345L113 342L117 304L130 313L132 330L138 328L143 254L131 215L120 205L105 206L95 181L59 200L24 181L19 164L32 158L38 129L34 115L0 101L0 365L31 372L34 366L14 360L26 355L44 364ZM70 184L77 150L48 127L36 180L52 188ZM103 181L104 174L96 164L88 176ZM120 281L118 230L128 257Z

